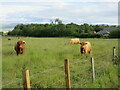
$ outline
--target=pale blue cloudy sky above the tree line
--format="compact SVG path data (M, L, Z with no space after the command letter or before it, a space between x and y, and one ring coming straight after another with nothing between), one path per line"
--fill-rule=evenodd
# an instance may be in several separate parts
M118 0L0 0L0 24L118 24Z

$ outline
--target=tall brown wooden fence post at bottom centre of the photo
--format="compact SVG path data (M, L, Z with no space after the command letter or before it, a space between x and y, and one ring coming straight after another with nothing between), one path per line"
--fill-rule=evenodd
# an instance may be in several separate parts
M69 60L64 60L65 65L65 80L66 80L66 90L70 90L70 69L69 69Z

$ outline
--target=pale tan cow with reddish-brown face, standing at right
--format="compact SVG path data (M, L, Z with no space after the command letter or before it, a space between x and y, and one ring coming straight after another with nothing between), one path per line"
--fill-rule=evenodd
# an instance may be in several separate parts
M92 47L91 47L91 44L90 42L81 42L81 48L80 48L80 51L81 51L81 54L92 54Z

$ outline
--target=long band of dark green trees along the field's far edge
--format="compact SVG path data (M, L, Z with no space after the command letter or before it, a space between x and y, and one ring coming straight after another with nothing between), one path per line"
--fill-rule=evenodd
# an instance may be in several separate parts
M116 27L109 25L89 25L87 23L78 25L75 23L63 24L61 20L51 20L50 24L18 24L8 35L30 36L30 37L90 37L100 38L102 34L94 33L106 27Z

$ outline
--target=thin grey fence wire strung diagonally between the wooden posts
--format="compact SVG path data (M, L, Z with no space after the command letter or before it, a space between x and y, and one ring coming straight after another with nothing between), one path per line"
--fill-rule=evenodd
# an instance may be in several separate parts
M104 57L106 55L102 55L102 56L99 56L99 57ZM95 59L98 59L99 57L95 58ZM86 61L89 61L89 60L84 60L84 61L77 61L77 62L72 62L70 64L76 64L76 63L81 63L81 62L86 62ZM54 67L54 68L51 68L51 69L48 69L48 70L45 70L43 72L39 72L39 73L36 73L36 74L33 74L31 75L30 77L34 77L34 76L37 76L37 75L40 75L40 74L43 74L43 73L46 73L46 72L49 72L49 71L52 71L52 70L55 70L55 69L58 69L58 68L61 68L61 67L64 67L64 65L61 65L61 66L58 66L58 67ZM4 87L4 86L7 86L7 85L10 85L10 84L13 84L13 83L16 83L16 82L19 82L21 81L22 79L19 79L17 81L13 81L13 82L10 82L10 83L7 83L7 84L4 84L0 87Z

